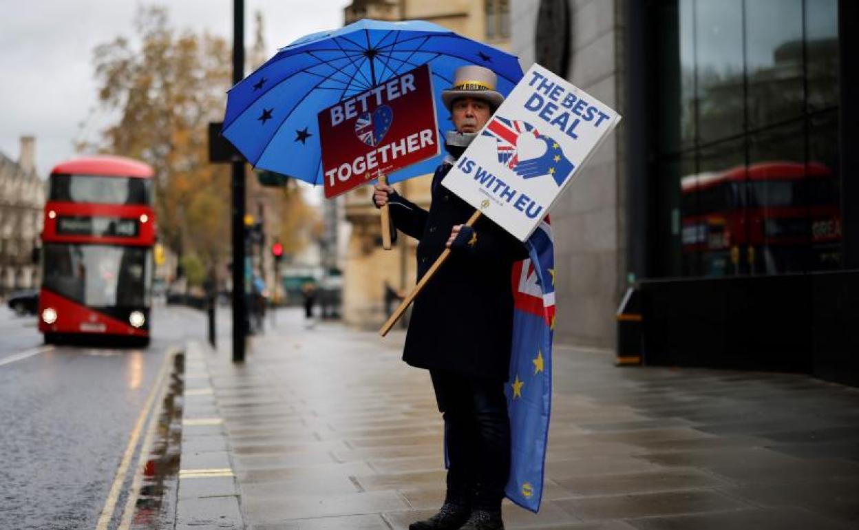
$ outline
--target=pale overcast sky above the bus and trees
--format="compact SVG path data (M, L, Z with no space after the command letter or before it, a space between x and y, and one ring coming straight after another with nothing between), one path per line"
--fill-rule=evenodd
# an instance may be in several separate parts
M271 56L302 35L342 26L349 3L245 0L246 49L257 10ZM36 137L36 170L45 178L76 155L77 139L99 139L112 116L96 101L93 49L134 37L141 5L167 7L172 27L232 40L233 0L0 0L0 152L17 161L21 136Z

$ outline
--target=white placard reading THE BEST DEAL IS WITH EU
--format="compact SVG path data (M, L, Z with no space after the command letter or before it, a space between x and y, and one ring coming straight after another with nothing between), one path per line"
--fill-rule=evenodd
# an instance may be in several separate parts
M601 101L534 64L442 185L526 241L618 121Z

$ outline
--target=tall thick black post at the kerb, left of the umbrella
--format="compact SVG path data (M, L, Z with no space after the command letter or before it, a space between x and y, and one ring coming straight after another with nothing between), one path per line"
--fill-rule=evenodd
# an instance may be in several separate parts
M245 5L233 0L233 84L245 76ZM233 193L233 362L245 362L245 162L234 158Z

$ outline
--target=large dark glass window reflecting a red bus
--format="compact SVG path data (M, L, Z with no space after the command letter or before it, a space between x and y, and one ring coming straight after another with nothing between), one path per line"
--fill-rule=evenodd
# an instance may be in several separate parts
M839 268L838 0L659 9L656 275Z

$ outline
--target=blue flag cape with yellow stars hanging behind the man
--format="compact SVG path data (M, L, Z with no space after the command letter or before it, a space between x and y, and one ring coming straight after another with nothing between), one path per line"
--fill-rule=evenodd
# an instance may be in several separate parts
M510 417L510 476L505 493L537 512L543 497L551 410L551 339L555 328L555 257L548 217L526 242L529 258L513 267L513 350L505 387Z

